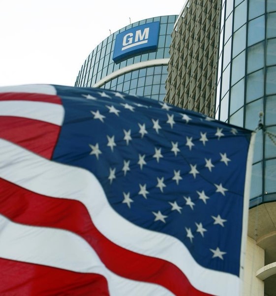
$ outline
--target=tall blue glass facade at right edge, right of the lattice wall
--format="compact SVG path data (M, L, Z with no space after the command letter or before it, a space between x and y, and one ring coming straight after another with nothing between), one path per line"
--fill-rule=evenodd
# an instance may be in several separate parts
M222 0L215 117L276 134L275 0ZM258 131L250 207L276 200L276 146Z

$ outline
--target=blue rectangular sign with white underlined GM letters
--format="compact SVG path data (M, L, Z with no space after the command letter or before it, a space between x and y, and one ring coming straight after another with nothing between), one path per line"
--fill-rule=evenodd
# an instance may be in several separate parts
M116 36L113 61L135 52L155 49L158 44L159 22L153 22L126 30Z

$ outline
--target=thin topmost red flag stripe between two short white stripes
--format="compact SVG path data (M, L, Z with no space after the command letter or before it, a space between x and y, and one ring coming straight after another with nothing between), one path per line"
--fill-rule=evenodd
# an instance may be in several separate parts
M32 93L0 93L0 101L34 101L34 102L47 102L53 104L61 103L61 98L55 95L45 94L32 94Z

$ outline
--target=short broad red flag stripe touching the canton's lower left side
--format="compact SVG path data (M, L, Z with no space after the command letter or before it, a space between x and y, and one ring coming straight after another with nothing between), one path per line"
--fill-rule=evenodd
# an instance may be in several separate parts
M61 127L39 120L0 116L0 138L50 159Z

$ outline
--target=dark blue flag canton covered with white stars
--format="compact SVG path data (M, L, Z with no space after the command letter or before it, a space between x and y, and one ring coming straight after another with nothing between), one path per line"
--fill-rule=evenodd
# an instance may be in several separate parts
M128 221L239 275L251 132L143 97L56 88L65 118L53 160L91 171Z

